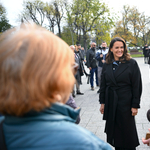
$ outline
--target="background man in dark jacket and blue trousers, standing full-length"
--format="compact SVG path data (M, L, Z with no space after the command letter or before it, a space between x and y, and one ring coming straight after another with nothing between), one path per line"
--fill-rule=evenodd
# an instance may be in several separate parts
M97 60L95 59L95 48L96 48L96 43L91 44L91 49L87 51L86 55L86 65L90 70L90 84L91 84L91 90L94 90L94 73L96 77L96 85L99 86L98 84L98 75L97 75Z

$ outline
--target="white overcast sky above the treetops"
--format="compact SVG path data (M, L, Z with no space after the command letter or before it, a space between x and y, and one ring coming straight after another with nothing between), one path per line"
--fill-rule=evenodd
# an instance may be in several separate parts
M51 1L51 0L43 0ZM100 0L101 1L101 0ZM10 24L16 26L19 24L17 20L18 15L22 11L23 0L0 0L7 10L7 17L10 21ZM145 15L150 16L150 5L148 0L104 0L104 2L111 9L111 12L115 12L118 16L121 16L120 12L123 8L123 5L136 6L140 12L145 12Z

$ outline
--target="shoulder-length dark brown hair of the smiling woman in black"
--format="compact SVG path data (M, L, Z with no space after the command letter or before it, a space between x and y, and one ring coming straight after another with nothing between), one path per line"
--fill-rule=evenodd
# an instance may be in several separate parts
M119 61L121 61L122 63L124 63L125 60L130 60L130 58L131 58L130 54L128 53L128 50L127 50L126 42L122 38L120 38L120 37L115 37L115 38L113 38L111 40L110 45L109 45L109 51L108 51L108 54L106 56L106 63L107 64L112 63L113 60L114 60L114 55L111 52L111 49L114 46L114 43L117 42L117 41L122 42L123 46L124 46L123 56L119 58Z

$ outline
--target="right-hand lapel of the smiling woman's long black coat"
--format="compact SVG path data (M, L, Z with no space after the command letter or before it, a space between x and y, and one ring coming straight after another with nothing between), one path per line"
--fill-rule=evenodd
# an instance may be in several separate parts
M114 72L115 78L117 78L119 75L121 75L128 67L129 67L129 63L128 62L121 63L118 66L118 68L116 69L116 71Z

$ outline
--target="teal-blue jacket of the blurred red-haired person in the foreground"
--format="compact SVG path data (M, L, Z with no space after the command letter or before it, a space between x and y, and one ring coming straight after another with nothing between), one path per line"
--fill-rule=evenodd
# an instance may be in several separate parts
M110 146L74 122L79 110L55 103L42 112L6 116L8 150L111 150Z

